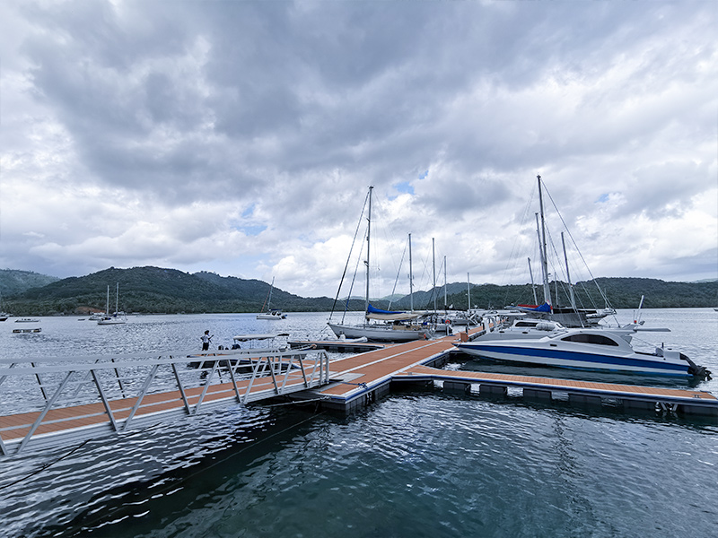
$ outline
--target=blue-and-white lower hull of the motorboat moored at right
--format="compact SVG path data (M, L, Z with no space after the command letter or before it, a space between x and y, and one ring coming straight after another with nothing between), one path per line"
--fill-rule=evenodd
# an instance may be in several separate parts
M582 351L529 348L512 343L460 343L460 351L484 359L537 366L591 371L691 377L685 361L668 360L649 353L600 354Z

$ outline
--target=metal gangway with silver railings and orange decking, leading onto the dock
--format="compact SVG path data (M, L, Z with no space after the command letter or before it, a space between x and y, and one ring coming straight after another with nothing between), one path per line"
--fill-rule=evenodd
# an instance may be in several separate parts
M323 350L0 359L0 456L328 382Z

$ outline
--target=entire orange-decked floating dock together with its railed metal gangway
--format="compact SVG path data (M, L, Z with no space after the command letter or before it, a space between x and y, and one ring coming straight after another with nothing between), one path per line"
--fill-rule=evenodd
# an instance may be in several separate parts
M458 352L453 343L482 331L476 328L434 340L381 345L337 360L329 360L325 350L303 349L306 343L302 350L276 353L176 353L144 360L97 357L84 358L83 363L56 360L40 367L31 360L12 364L0 360L3 401L17 408L18 398L29 398L22 410L0 416L0 456L16 454L28 445L42 447L122 433L130 425L197 414L200 406L206 412L217 404L283 398L352 412L388 395L392 385L407 383L441 383L444 390L463 393L477 386L478 395L492 397L508 395L511 388L533 401L551 402L556 395L567 395L570 404L610 401L626 410L718 417L718 398L705 391L433 368ZM190 363L202 368L190 368ZM23 378L25 385L4 384L12 377ZM40 391L41 397L36 394L30 399L31 392Z

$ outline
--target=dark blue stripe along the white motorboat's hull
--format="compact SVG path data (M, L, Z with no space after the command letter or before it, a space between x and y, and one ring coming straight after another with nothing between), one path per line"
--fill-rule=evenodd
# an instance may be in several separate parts
M460 345L459 349L466 349L472 351L484 351L491 353L505 353L509 355L516 355L517 357L539 357L542 359L556 359L556 360L570 360L574 362L590 362L595 364L595 368L600 368L599 365L604 364L606 367L609 365L626 366L628 368L639 368L639 369L662 369L670 370L670 372L687 374L688 365L683 366L682 364L672 364L670 362L662 362L661 360L649 360L649 359L632 359L627 357L611 357L610 355L597 355L595 353L582 353L580 351L561 351L561 350L542 350L542 349L526 349L512 346L497 346L497 345L481 345L480 343L472 345ZM518 359L517 359L518 360Z

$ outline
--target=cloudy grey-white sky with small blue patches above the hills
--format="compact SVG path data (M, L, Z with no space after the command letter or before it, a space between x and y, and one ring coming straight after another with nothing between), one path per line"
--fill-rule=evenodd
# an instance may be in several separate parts
M408 233L416 288L444 256L529 282L540 174L589 274L718 278L716 29L708 1L3 0L0 268L333 297L373 186L372 294L408 291Z

